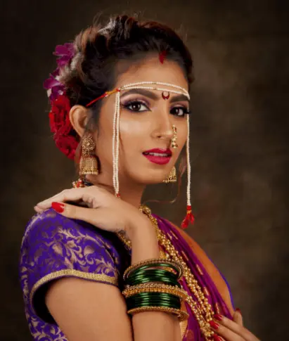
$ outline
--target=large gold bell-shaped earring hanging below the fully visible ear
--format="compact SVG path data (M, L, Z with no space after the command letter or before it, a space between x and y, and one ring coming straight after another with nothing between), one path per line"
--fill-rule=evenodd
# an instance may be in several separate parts
M85 136L82 141L82 156L79 161L79 175L94 174L98 175L97 160L94 155L91 155L91 151L96 148L94 139L89 136Z

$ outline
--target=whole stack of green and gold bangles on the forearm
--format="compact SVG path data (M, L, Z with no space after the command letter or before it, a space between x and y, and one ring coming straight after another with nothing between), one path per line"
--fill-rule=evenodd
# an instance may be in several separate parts
M124 295L127 314L141 311L165 311L178 316L179 321L188 319L181 310L181 300L187 292L178 280L183 274L179 262L170 259L148 259L129 266L124 271Z

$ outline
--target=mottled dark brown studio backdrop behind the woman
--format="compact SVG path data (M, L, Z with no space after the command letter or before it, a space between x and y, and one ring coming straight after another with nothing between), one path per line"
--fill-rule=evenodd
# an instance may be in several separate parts
M245 324L289 340L286 1L6 1L1 4L0 340L30 340L18 282L20 242L33 205L74 179L54 147L42 82L52 51L105 15L144 11L182 25L195 60L191 149L195 226L188 229L226 276ZM157 193L157 194L155 194ZM160 185L146 198L172 198ZM150 205L179 224L174 210Z

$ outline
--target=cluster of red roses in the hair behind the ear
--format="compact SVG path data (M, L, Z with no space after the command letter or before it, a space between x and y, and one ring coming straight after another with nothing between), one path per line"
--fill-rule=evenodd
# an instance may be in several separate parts
M78 141L73 136L73 127L69 119L70 102L64 95L58 96L51 101L51 112L49 112L49 123L51 132L54 133L53 140L56 146L70 159L74 159Z

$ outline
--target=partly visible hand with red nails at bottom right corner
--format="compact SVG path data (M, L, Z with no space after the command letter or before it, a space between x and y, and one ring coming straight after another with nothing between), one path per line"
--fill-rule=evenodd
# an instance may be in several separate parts
M214 335L215 341L260 341L243 327L243 318L239 310L234 312L233 321L225 316L214 315L214 321L210 321L210 325L212 330L218 334Z

